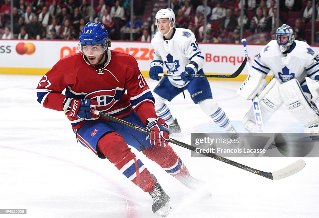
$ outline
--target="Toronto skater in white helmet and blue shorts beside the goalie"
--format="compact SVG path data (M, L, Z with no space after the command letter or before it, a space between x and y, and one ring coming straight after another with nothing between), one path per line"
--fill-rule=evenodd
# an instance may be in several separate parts
M168 74L180 76L164 77L154 89L157 116L166 120L170 133L181 129L165 104L187 89L195 104L227 133L236 133L223 109L212 99L211 88L206 78L190 77L189 74L204 74L204 57L198 47L195 35L188 29L174 28L175 15L172 9L159 10L155 15L159 32L152 37L154 59L150 64L151 79L158 80L163 65Z

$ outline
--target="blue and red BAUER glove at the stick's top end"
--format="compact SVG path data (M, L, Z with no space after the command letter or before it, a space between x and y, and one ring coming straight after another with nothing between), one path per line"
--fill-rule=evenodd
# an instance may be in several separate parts
M95 108L99 105L97 101L90 99L69 99L65 102L66 104L69 102L69 107L66 111L67 116L77 117L83 120L95 120L99 116L94 114L91 109Z

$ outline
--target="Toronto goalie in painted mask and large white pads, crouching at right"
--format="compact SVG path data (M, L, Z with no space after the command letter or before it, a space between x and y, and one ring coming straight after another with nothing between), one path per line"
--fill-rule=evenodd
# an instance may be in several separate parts
M256 56L251 74L237 93L247 100L258 95L264 122L284 103L305 125L305 133L318 133L319 56L306 42L294 40L293 29L286 24L275 37ZM264 78L270 71L274 76L267 84ZM257 132L252 108L241 124Z

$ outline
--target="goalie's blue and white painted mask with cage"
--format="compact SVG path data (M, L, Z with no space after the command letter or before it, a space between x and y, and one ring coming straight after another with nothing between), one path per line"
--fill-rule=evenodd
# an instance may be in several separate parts
M279 45L280 52L283 53L287 50L287 47L291 46L295 41L295 33L291 26L283 24L282 26L278 27L275 38Z

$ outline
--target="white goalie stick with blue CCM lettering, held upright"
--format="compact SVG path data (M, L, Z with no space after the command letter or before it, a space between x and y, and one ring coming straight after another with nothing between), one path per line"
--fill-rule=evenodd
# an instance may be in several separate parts
M247 59L247 70L248 74L250 74L250 64L249 64L249 58L248 58L248 52L247 52L247 45L246 45L246 39L241 39L241 42L244 46L244 52ZM254 115L255 115L255 122L257 127L257 132L262 133L264 132L263 129L263 117L261 116L261 110L260 110L260 104L259 104L259 98L258 95L256 95L253 99L253 109L254 109Z

